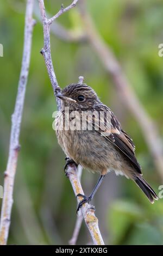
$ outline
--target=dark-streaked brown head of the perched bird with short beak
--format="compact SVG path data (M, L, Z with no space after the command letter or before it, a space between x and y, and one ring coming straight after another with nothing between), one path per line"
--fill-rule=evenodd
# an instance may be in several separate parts
M70 84L57 97L61 99L62 107L69 107L71 111L91 109L100 102L96 92L86 84Z

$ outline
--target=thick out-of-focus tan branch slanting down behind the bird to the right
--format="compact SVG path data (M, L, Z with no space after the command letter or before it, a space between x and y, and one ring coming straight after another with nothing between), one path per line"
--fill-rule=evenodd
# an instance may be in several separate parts
M137 123L140 125L148 148L153 156L156 169L158 170L161 180L163 180L163 152L161 138L156 124L153 122L136 96L131 84L121 69L120 63L118 63L114 53L111 51L111 48L106 45L101 35L97 32L93 20L86 10L84 0L80 1L79 12L84 24L87 39L90 41L91 46L94 48L99 59L103 63L105 70L111 76L117 93L121 95L121 99L124 101L124 104L134 115Z

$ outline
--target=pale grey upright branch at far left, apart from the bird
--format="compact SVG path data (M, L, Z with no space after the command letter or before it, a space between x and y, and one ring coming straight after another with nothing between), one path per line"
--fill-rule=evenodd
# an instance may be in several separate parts
M19 137L20 127L24 106L24 96L26 93L26 84L28 79L28 69L30 62L30 50L32 45L33 26L35 24L33 17L33 0L27 0L26 6L26 21L24 28L24 47L22 68L20 80L18 82L18 92L15 102L14 113L12 114L12 125L10 133L9 157L7 170L4 175L4 195L1 210L0 223L0 245L6 245L9 235L11 209L12 209L12 194L14 188L14 179L17 167L18 151L20 150Z

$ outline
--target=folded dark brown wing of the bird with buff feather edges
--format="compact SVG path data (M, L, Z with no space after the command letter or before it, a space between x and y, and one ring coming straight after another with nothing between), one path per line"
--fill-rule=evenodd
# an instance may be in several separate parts
M115 147L120 149L121 153L133 164L137 172L142 174L140 164L135 157L135 145L132 139L122 130L120 122L108 107L103 105L101 111L110 112L110 116L108 118L106 118L106 115L105 117L100 116L100 124L97 117L94 117L95 130L101 133L101 136L108 139ZM97 126L99 129L96 129Z

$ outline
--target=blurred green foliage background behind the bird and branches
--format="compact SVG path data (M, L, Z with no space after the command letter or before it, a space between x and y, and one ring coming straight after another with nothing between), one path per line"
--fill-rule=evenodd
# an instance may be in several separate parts
M57 13L61 3L66 6L70 2L45 0L51 15ZM0 185L3 185L7 165L11 114L21 69L25 8L26 1L1 0L0 43L4 57L0 58ZM37 3L35 8L38 8ZM158 56L158 45L163 43L162 1L89 0L87 8L146 111L158 124L162 137L163 57ZM62 15L58 22L77 33L82 30L77 9ZM42 26L37 21L21 126L9 244L68 244L76 222L76 198L63 171L65 155L52 129L56 103L40 54L42 46ZM117 95L92 47L87 42L65 42L53 34L51 46L60 86L77 82L80 75L85 77L85 82L96 90L133 137L143 175L158 193L161 181L139 124ZM87 195L97 179L98 175L84 170L82 185ZM2 199L0 206L1 203ZM162 200L151 205L132 181L108 174L92 203L96 205L106 244L163 243ZM91 243L84 223L78 243Z

